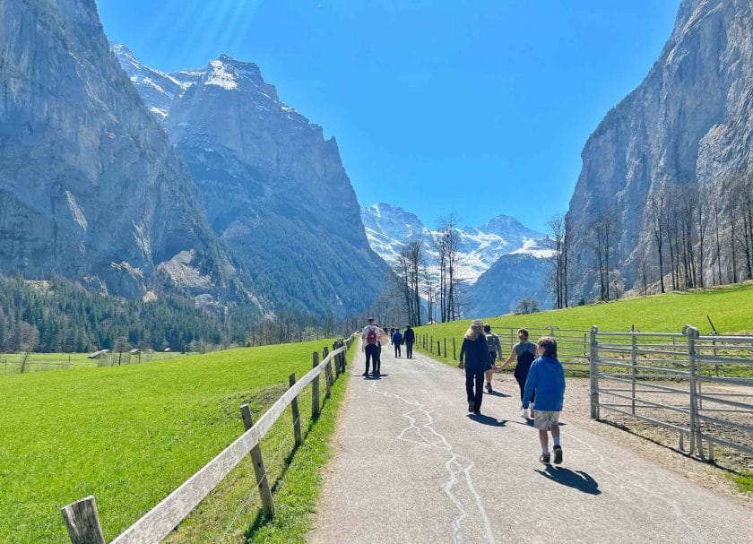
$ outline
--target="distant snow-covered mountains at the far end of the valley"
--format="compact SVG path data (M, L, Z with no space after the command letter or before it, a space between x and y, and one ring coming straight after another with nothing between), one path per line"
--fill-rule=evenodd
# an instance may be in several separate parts
M423 240L429 260L436 262L434 240L439 232L428 229L414 213L392 204L376 203L361 206L361 220L368 243L387 263L396 263L402 249L415 237ZM498 215L480 227L458 229L458 234L459 277L470 285L503 255L530 255L541 259L554 255L545 234L528 229L507 215Z

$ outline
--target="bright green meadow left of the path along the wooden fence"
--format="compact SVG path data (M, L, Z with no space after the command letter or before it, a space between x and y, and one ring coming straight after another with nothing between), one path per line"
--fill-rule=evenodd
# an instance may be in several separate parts
M288 375L303 376L311 352L325 345L332 341L4 376L0 542L68 541L60 508L88 495L97 497L105 536L112 540L243 432L242 403L248 402L258 418L285 390ZM342 390L336 389L333 399L338 395ZM307 407L301 400L304 428L308 399ZM320 457L326 456L330 417L323 412L323 424L309 429L313 439L306 447ZM291 434L287 419L274 427L265 448L276 449ZM295 466L287 469L290 474ZM316 489L311 493L316 500ZM203 525L218 531L226 520L220 516ZM208 533L195 534L195 541L205 541ZM219 536L212 533L213 539Z

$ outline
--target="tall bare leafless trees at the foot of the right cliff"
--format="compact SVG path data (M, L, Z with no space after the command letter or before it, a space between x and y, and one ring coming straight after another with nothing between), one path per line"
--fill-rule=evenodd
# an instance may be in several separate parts
M550 218L554 256L548 282L555 307L585 303L584 293L573 292L584 273L595 279L598 299L624 294L616 218L616 210L607 207L581 230L569 224L567 215ZM647 194L643 226L648 237L635 257L636 293L753 280L753 184L747 175L718 184L667 182ZM576 246L591 252L592 270L572 270Z

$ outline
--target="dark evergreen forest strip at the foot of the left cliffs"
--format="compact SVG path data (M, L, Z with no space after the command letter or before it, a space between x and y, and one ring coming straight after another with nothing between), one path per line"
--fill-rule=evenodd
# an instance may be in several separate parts
M132 348L206 351L339 335L343 320L255 307L197 307L176 296L124 299L71 281L0 277L0 352L85 352Z

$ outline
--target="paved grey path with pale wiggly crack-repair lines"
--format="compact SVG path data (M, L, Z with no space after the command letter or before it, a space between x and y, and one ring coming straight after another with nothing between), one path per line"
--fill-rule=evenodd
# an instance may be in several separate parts
M312 543L753 542L753 511L567 421L545 469L516 399L471 417L462 371L390 351L350 368Z

